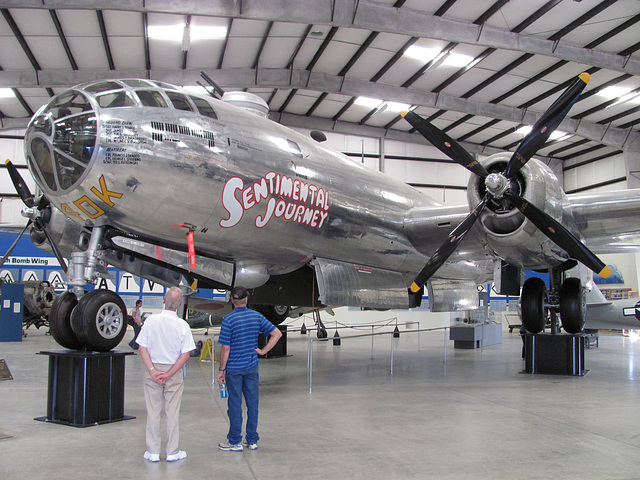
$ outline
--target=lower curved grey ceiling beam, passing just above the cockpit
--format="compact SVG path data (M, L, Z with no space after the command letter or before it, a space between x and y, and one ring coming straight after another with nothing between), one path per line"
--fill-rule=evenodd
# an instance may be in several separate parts
M0 87L42 88L70 87L78 83L108 78L149 78L175 85L195 85L200 77L200 69L162 70L32 70L0 71ZM411 88L358 80L338 75L327 75L308 70L296 69L228 69L209 72L212 78L225 90L233 88L293 88L317 92L328 92L349 97L367 97L392 100L395 102L420 105L465 114L497 118L517 124L533 125L543 112L526 108L507 107L472 99L454 97L445 93L431 93ZM640 151L640 132L624 130L608 125L598 125L583 119L566 118L558 127L590 140L613 148L630 148Z

